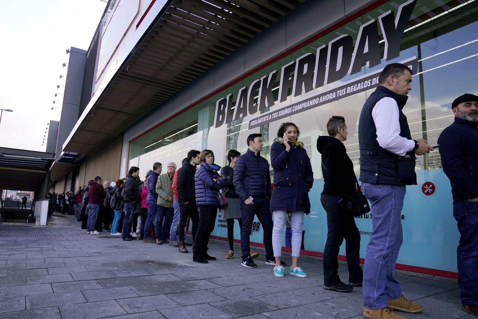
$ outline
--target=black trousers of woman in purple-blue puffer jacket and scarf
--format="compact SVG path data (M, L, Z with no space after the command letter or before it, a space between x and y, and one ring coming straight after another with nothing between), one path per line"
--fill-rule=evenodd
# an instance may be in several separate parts
M193 258L201 258L206 253L211 232L216 224L217 207L199 206L199 225L197 226L196 237L194 238ZM182 237L179 237L182 238Z

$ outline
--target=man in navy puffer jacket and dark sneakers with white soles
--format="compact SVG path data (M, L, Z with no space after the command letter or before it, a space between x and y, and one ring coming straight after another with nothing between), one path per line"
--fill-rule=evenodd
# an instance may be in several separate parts
M275 264L272 251L272 216L269 210L271 198L271 173L269 162L261 156L262 134L250 134L247 138L249 149L240 155L234 167L233 184L241 199L242 228L240 231L241 265L256 268L250 258L249 237L254 215L262 224L264 246L266 248L266 264Z

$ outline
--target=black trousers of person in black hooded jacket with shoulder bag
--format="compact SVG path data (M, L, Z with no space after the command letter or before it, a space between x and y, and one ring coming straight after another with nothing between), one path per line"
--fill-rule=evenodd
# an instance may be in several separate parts
M335 286L340 283L337 257L344 238L348 281L354 284L362 283L360 233L354 217L347 208L346 200L338 196L322 195L320 201L327 212L328 229L324 248L324 285Z

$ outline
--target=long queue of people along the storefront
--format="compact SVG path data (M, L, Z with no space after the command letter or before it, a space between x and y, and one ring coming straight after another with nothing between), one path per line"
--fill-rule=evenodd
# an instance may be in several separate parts
M412 75L408 66L398 63L386 66L380 74L378 88L366 100L360 114L359 180L373 215L363 270L359 264L360 234L350 213L351 197L359 185L343 143L348 135L346 119L332 116L326 125L329 136L317 139L324 176L320 200L326 210L328 229L323 287L350 292L362 286L363 317L367 319L405 319L395 310L408 313L424 310L422 305L404 297L395 277L403 240L401 215L406 186L417 184L416 155L434 150L424 139L412 139L402 111L412 89ZM478 174L472 174L473 168L478 167L478 96L458 97L452 103L452 111L455 121L440 136L440 154L444 172L451 182L453 214L461 234L457 264L462 308L478 316ZM228 226L226 258L232 259L235 255L233 228L237 220L241 265L248 268L258 267L253 258L259 253L250 250L252 223L257 216L263 227L265 264L274 266L272 273L277 277L284 276L282 233L288 220L292 231L289 275L305 278L304 269L299 267L299 253L304 214L310 212L309 192L314 174L299 137L297 125L282 123L271 145L271 165L261 156L262 135L254 133L247 138L246 153L241 155L230 150L228 165L222 168L215 163L212 150L190 150L181 168L168 163L167 174L161 175L162 164L154 163L144 183L135 166L130 167L126 180L117 180L112 188L106 182L101 187L102 178L96 176L82 191L82 208L78 206L78 211L84 211L87 205L85 216L90 234L100 233L101 222L97 222L100 206L110 208L114 211L111 235L121 235L123 241L139 237L144 243L169 243L180 253L188 253L186 246L192 246L193 262L207 264L217 259L209 255L207 245L217 211L221 209ZM270 167L274 176L273 191ZM67 195L57 196L60 198L58 207L68 207L74 201ZM222 196L227 199L227 205ZM133 231L136 227L131 227L133 216L141 225L136 234ZM192 223L192 242L185 239L188 217ZM156 220L155 227L153 220ZM106 226L107 223L105 229ZM338 275L337 256L344 239L348 284Z

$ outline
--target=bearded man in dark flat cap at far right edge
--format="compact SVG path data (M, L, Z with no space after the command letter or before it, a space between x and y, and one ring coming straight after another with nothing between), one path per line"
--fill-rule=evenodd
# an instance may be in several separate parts
M478 317L478 96L463 94L451 107L455 121L440 134L439 151L461 235L456 257L462 309Z

